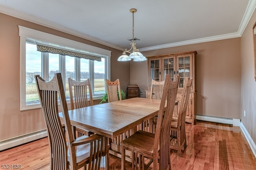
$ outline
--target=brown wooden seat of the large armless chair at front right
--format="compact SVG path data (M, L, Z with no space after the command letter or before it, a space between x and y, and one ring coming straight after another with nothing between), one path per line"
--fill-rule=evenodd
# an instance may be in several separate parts
M129 138L122 140L121 146L129 147L133 152L143 152L147 155L153 155L155 134L139 130Z

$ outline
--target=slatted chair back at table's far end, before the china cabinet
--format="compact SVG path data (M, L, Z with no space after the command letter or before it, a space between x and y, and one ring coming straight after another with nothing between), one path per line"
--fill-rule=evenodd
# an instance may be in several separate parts
M161 99L163 90L164 90L164 81L156 81L152 79L150 99Z

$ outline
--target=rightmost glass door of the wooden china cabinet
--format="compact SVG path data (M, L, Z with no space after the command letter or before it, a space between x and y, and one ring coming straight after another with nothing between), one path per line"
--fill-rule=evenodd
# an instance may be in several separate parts
M179 88L184 87L184 78L192 77L192 55L180 55L177 56L177 74L180 76Z

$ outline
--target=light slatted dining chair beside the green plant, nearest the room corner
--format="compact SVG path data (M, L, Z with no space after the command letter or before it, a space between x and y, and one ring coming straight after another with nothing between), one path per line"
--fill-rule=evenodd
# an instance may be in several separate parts
M122 100L121 89L119 79L116 81L110 81L106 79L107 93L108 93L108 102ZM118 93L118 95L117 95Z

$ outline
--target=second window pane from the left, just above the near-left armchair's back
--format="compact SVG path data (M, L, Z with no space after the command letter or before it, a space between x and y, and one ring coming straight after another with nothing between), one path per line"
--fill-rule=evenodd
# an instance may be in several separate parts
M49 53L49 81L54 77L54 73L60 73L59 54Z

